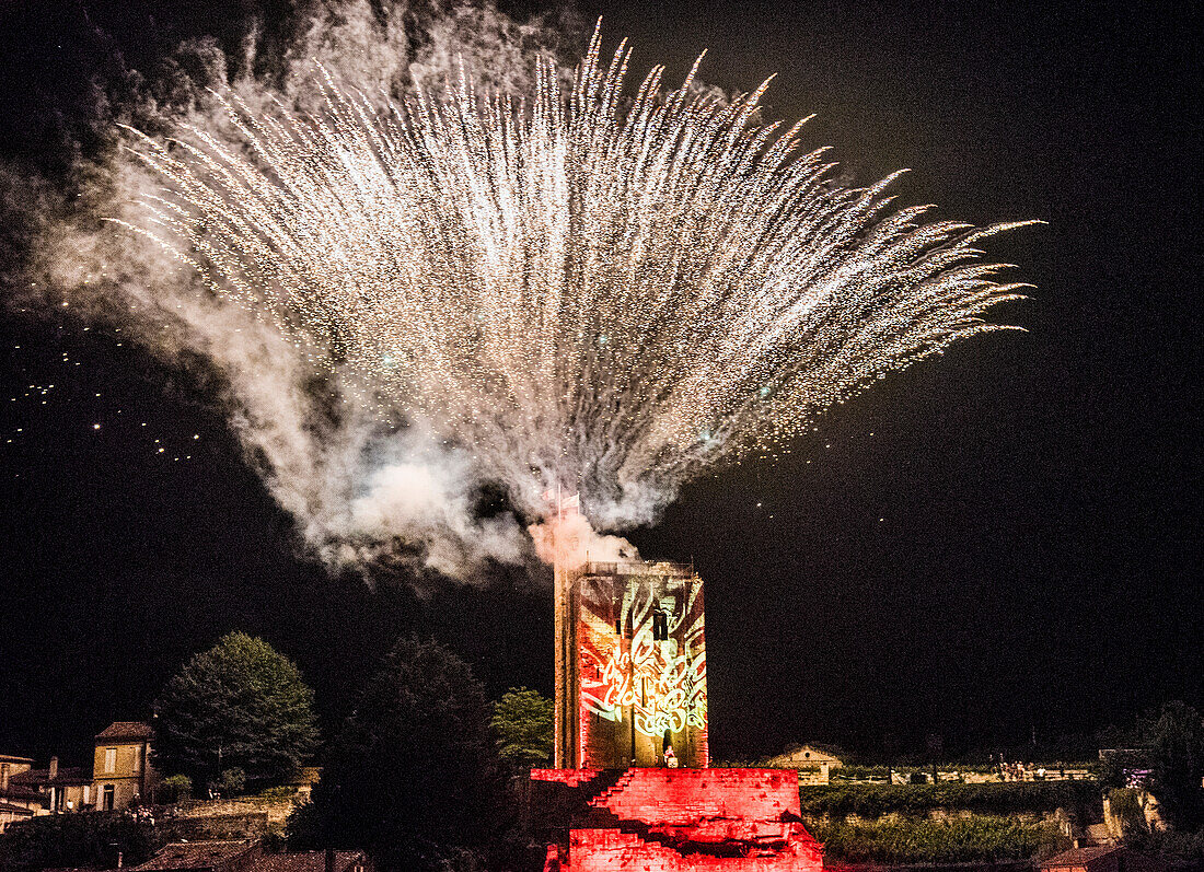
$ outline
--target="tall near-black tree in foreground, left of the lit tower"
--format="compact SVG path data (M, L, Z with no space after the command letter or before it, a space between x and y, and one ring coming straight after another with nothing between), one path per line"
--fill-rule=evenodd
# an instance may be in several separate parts
M489 738L489 706L467 664L433 641L403 639L327 749L313 791L327 846L429 870L483 844L497 812Z

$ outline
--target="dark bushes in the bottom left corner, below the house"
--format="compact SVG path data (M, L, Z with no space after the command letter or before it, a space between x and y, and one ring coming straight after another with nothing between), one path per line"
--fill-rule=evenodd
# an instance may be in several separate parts
M51 814L8 826L0 836L0 868L123 866L148 860L163 837L149 820L124 812Z

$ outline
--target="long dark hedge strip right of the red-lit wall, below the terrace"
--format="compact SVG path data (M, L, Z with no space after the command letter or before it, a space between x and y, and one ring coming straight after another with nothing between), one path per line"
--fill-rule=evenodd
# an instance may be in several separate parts
M920 813L932 808L967 809L984 814L1086 809L1100 805L1092 781L1010 782L1004 784L857 784L803 787L803 814L878 818L889 812Z

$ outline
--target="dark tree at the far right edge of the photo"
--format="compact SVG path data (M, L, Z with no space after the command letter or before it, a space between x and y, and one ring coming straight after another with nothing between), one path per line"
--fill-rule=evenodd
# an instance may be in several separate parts
M1168 702L1153 723L1150 790L1176 829L1204 824L1204 719L1184 702Z

